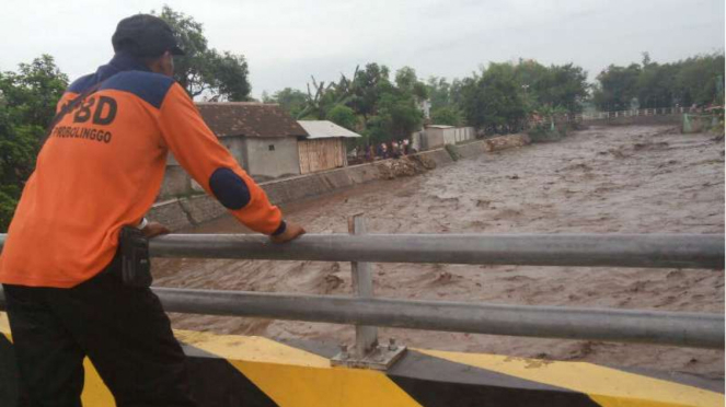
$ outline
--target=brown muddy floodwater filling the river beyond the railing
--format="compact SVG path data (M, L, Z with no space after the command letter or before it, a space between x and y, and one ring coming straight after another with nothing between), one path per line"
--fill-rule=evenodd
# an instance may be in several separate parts
M426 174L283 207L310 233L724 233L724 143L671 127L598 127ZM242 233L232 218L184 233ZM155 259L155 284L350 293L348 263ZM723 270L377 264L379 296L724 312ZM172 314L175 328L353 342L350 326ZM724 351L602 341L379 330L410 347L724 375Z

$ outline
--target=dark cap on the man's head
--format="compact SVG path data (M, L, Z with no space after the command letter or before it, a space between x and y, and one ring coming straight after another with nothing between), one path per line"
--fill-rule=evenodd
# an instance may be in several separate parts
M150 14L136 14L118 22L111 43L114 51L125 50L137 57L158 57L165 51L184 55L172 27Z

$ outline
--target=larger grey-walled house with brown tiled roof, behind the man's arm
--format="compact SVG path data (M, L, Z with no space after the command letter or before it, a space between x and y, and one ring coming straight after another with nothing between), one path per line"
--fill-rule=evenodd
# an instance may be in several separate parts
M196 105L220 143L255 181L300 174L298 138L308 133L278 105L247 102ZM161 198L200 190L170 154Z

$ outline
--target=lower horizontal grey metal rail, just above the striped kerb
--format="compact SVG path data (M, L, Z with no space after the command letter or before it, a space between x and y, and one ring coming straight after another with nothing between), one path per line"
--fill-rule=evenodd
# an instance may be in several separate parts
M724 315L158 288L170 312L472 334L724 347Z

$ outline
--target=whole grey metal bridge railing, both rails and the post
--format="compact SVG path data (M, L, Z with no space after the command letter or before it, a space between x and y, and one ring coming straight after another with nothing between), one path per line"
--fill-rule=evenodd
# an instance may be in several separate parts
M155 257L353 261L353 298L168 288L154 292L169 312L355 324L355 357L345 350L342 354L357 365L366 364L377 349L401 349L378 346L374 326L723 348L723 314L373 298L369 263L723 269L721 234L366 234L360 217L352 220L350 232L310 234L283 245L261 235L172 234L152 240L150 249ZM0 307L3 301L0 294Z

